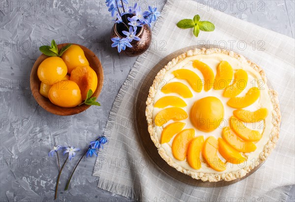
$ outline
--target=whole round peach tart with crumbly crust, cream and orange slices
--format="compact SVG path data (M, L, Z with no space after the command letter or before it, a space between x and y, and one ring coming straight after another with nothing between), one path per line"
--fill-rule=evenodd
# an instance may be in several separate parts
M149 89L146 116L161 157L203 181L240 178L265 161L281 121L262 68L219 49L169 62Z

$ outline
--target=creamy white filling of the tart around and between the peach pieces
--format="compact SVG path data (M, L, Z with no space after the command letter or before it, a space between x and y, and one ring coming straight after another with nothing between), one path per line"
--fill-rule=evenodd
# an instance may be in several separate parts
M191 86L189 85L189 83L186 80L178 79L172 74L173 71L183 68L183 69L188 69L188 70L195 72L201 79L204 79L202 73L198 69L193 67L194 60L200 60L200 61L206 63L212 69L212 71L214 72L214 75L216 75L217 67L218 67L220 61L222 61L222 60L229 62L230 65L232 66L234 72L238 69L243 69L247 72L247 74L248 74L247 86L242 91L242 93L240 93L237 97L243 97L248 92L248 90L254 86L256 86L260 89L260 98L252 105L245 107L243 109L250 110L250 111L256 111L262 107L267 108L268 115L265 119L265 123L263 123L263 121L258 122L258 123L253 123L253 124L252 123L245 123L245 125L247 127L249 127L250 129L258 130L259 132L263 133L263 136L262 136L261 140L259 140L258 142L255 143L255 145L257 147L257 149L255 151L250 152L250 153L245 153L245 156L247 156L247 161L245 161L241 164L232 164L232 163L228 162L227 169L223 172L218 172L218 171L215 171L212 168L208 167L207 164L205 163L205 161L203 161L201 169L195 170L189 166L186 159L184 161L177 160L173 156L172 149L171 149L172 142L173 142L175 136L171 139L171 141L169 143L164 143L161 145L161 147L166 151L167 155L173 159L174 162L176 162L182 168L184 168L186 170L190 170L192 172L228 173L228 172L240 170L240 169L242 169L244 167L248 167L250 165L255 165L255 161L259 158L259 154L263 151L264 146L266 145L267 141L269 140L269 134L270 134L271 129L273 127L272 122L271 122L272 121L271 112L273 110L273 106L272 106L272 102L270 100L270 97L268 95L268 87L267 87L266 83L264 83L264 80L262 79L261 75L246 62L242 63L239 60L237 60L236 58L231 57L226 54L223 54L223 53L212 53L212 54L207 54L207 55L202 54L202 55L194 55L194 56L186 57L184 60L177 63L177 65L175 65L173 68L171 68L170 70L168 70L164 74L163 79L157 85L157 92L155 93L155 96L154 96L154 103L156 101L158 101L160 98L165 97L165 96L180 97L178 94L175 94L175 93L164 94L163 92L161 92L160 89L166 83L175 82L175 81L184 83L191 90L193 97L186 98L186 99L181 98L187 104L187 106L183 107L182 109L184 109L186 111L186 113L188 114L187 119L181 120L181 122L186 123L186 125L183 129L194 128L195 129L195 136L203 135L205 140L209 136L214 136L216 139L221 137L222 128L224 126L228 126L228 121L221 123L221 125L218 128L216 128L215 130L213 130L211 132L204 132L204 131L197 129L195 126L192 125L192 123L189 119L189 114L190 114L191 107L195 101L198 101L199 99L202 99L202 98L205 98L208 96L214 96L214 97L218 98L223 103L224 120L228 120L231 116L233 116L233 111L236 110L236 108L232 108L227 105L227 101L229 100L229 98L223 97L224 90L214 90L213 88L211 88L209 91L206 92L206 91L204 91L204 88L203 88L200 93L197 93L191 88ZM171 106L168 106L168 107L171 107ZM155 116L157 115L157 113L160 112L161 110L163 110L163 108L153 107L153 112L152 112L153 120L154 120ZM170 120L169 122L167 122L164 125L164 127L173 123L173 122L174 121ZM161 133L163 130L162 129L163 126L161 126L161 127L155 126L155 127L156 127L156 134L158 136L159 142L161 142L160 139L161 139ZM219 152L217 152L217 155L221 159L223 159ZM200 156L202 156L202 154Z

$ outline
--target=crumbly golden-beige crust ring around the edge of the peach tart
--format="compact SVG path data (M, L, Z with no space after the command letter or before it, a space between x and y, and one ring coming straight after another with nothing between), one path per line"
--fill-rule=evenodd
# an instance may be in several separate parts
M279 130L280 130L280 123L281 123L281 113L280 113L280 107L279 107L279 101L278 101L278 95L276 91L269 89L268 95L271 99L272 105L273 105L273 111L272 111L272 124L273 127L271 129L271 133L269 134L269 140L267 141L266 145L264 146L263 151L259 154L259 158L256 159L255 163L245 167L241 168L238 171L234 172L228 172L228 173L201 173L201 172L192 172L190 170L184 169L183 167L179 166L174 160L167 155L166 151L161 147L161 144L159 142L159 139L157 137L157 133L155 132L155 126L152 119L152 111L153 111L153 104L154 104L154 95L157 92L156 86L157 84L163 79L164 74L166 71L173 68L177 63L184 60L186 57L190 57L193 55L199 55L199 54L212 54L212 53L224 53L231 57L236 58L238 61L242 63L247 63L250 65L255 71L257 71L262 79L266 83L266 75L264 70L258 66L257 64L253 63L250 60L247 60L244 56L234 52L234 51L227 51L227 50L220 50L220 49L194 49L187 51L176 58L174 58L172 61L170 61L162 70L159 71L157 76L155 77L152 86L149 89L148 99L147 99L147 108L146 108L146 116L148 121L148 132L150 134L150 138L155 144L155 146L158 148L158 152L160 156L172 167L177 169L177 171L184 173L192 178L195 179L201 179L203 181L210 181L210 182L216 182L220 180L225 181L231 181L236 178L244 177L247 173L249 173L254 167L256 167L259 163L264 162L270 152L274 149L275 144L279 138Z

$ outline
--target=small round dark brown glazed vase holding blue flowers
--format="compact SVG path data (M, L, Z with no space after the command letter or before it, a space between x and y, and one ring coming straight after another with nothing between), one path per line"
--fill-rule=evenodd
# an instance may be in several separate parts
M119 38L124 38L124 36L121 36L120 31L118 31L118 24L115 23L115 25L112 28L111 32L111 38L118 36ZM126 47L125 51L121 51L120 54L125 54L130 57L138 56L145 51L148 50L148 47L151 43L151 30L148 25L138 26L137 29L139 32L136 34L140 38L140 41L133 40L130 42L132 45L132 48ZM112 42L113 43L113 42ZM114 47L117 51L117 47Z

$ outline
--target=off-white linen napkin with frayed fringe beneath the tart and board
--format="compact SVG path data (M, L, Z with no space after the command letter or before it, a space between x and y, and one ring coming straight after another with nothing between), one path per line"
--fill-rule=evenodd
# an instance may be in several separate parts
M196 38L192 30L176 26L196 14L213 22L215 30ZM295 184L294 39L189 0L168 0L152 33L153 44L137 59L110 113L105 129L109 144L99 153L93 173L98 187L139 201L285 201ZM137 95L149 71L170 53L204 43L226 46L263 67L279 93L282 113L279 141L263 167L219 188L187 185L161 171L142 147L134 123Z

